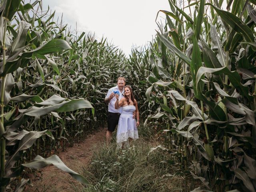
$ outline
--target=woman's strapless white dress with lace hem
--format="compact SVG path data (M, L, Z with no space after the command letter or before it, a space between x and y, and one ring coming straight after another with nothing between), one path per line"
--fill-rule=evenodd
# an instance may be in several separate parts
M127 141L128 138L134 140L139 138L136 120L132 118L135 110L136 108L134 105L126 105L122 107L116 134L116 142L118 146L122 146L122 142Z

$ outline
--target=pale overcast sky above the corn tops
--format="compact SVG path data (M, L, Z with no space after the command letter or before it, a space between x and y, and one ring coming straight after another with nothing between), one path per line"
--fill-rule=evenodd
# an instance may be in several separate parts
M33 1L32 1L33 2ZM95 32L97 38L108 38L126 55L132 46L143 46L152 40L158 26L159 10L170 10L168 0L43 0L44 10L56 10L55 19L76 28L78 32ZM160 13L158 22L164 22ZM162 18L162 19L161 19Z

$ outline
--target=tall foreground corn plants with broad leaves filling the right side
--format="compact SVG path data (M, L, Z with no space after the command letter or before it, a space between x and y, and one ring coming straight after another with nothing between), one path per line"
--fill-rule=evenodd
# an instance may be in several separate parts
M202 181L194 191L254 192L255 2L229 0L228 11L223 1L169 3L146 91L161 110L150 118L165 120L170 149Z

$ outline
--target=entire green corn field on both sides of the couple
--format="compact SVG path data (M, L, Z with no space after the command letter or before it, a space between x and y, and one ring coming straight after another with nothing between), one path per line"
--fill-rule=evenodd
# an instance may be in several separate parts
M50 164L90 185L54 153L105 126L119 76L141 126L160 135L179 174L200 181L194 192L256 191L256 1L168 2L150 46L126 56L72 33L42 0L0 1L1 192L22 191L28 168Z

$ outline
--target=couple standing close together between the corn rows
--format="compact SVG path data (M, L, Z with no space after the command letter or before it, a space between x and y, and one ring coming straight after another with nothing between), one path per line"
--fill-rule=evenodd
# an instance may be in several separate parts
M125 86L125 79L119 77L117 86L108 90L105 97L108 103L108 130L106 142L110 143L113 131L118 125L116 142L119 147L129 145L130 139L138 139L139 111L138 103L130 86ZM135 120L136 117L136 120Z

